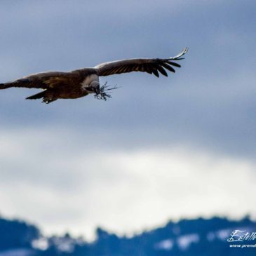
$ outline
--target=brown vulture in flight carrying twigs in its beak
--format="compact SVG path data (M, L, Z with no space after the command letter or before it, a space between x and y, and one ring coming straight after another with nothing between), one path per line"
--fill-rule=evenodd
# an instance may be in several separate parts
M187 53L184 48L175 57L167 59L127 59L105 62L95 67L76 69L71 72L43 72L31 74L7 83L0 83L0 89L6 88L38 88L43 89L40 93L29 96L27 100L42 99L46 104L58 99L76 99L93 93L97 99L107 100L111 97L107 94L108 88L100 86L99 76L109 76L128 72L147 72L159 77L159 72L168 76L166 69L175 72L173 67L180 67L175 60L182 60L182 55Z

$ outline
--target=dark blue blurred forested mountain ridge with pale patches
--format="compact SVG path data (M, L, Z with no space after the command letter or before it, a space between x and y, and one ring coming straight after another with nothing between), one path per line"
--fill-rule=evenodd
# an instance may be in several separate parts
M253 241L227 241L237 229L256 232L256 222L250 217L242 220L212 217L170 221L164 227L131 238L97 228L95 241L88 243L69 234L44 237L34 225L0 218L0 256L255 256L256 237ZM229 246L248 243L255 244L255 247Z

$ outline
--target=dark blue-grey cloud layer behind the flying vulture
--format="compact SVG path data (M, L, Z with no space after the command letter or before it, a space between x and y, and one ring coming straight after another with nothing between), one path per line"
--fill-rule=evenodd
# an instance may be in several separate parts
M88 97L45 106L23 100L34 90L1 91L1 126L65 126L84 139L100 133L130 144L184 141L255 154L254 23L254 1L3 1L1 81L120 58L166 57L184 46L189 53L168 79L102 79L122 86L109 102Z

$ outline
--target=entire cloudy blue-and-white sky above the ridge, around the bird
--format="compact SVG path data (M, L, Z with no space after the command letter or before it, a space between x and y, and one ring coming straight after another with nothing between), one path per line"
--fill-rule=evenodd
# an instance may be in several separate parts
M0 79L166 58L168 78L50 105L0 92L0 213L91 237L255 214L255 1L1 1Z

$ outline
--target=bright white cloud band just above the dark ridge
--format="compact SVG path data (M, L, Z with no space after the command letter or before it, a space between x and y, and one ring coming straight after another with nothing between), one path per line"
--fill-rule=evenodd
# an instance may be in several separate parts
M92 238L166 220L214 214L255 217L256 164L196 148L135 150L79 144L74 130L1 130L1 213L46 233ZM76 147L78 145L78 147Z

